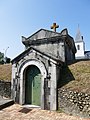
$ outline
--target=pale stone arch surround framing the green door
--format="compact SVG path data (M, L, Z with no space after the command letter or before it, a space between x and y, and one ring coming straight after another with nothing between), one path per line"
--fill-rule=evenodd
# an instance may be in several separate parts
M47 72L46 72L46 68L44 66L44 64L41 61L38 60L28 60L27 62L25 62L23 65L21 65L22 67L20 68L20 100L19 103L20 104L25 104L25 71L26 68L28 68L29 66L36 66L41 73L41 107L44 108L44 79L46 78Z

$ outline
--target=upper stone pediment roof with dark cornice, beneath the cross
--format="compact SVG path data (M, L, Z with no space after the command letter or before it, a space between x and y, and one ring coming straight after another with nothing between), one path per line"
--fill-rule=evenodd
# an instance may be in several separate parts
M76 48L74 45L74 40L73 38L68 34L68 30L65 28L63 29L60 33L50 31L50 30L45 30L45 29L40 29L28 38L22 36L22 43L25 46L31 46L35 44L45 44L45 43L50 43L50 42L57 42L58 40L66 42L69 47L72 49L72 51L75 53Z

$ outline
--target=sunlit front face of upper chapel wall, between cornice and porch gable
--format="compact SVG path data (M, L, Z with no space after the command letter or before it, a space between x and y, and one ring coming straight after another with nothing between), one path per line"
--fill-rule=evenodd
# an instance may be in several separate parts
M51 55L55 58L60 58L60 60L65 62L65 48L64 48L64 42L62 41L58 41L55 43L47 42L45 44L39 44L39 45L35 44L32 46L38 49L39 51L46 53L47 55Z

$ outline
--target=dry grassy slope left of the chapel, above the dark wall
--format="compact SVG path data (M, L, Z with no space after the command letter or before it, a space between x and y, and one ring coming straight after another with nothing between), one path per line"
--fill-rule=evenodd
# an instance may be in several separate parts
M0 80L11 80L11 64L0 65Z

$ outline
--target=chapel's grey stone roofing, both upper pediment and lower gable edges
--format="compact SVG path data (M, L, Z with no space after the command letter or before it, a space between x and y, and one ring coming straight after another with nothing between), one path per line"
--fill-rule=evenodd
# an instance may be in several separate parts
M22 52L20 55L18 55L16 58L12 60L12 62L20 60L23 56L27 54L31 49L55 60L55 61L62 61L61 59L58 59L57 57L44 53L34 47L32 47L34 44L44 44L44 43L54 43L58 41L63 41L68 44L69 48L72 49L72 52L76 52L75 44L73 38L68 34L68 30L64 29L60 33L50 31L50 30L45 30L45 29L40 29L28 38L25 38L22 36L22 42L24 45L28 46L28 49Z

